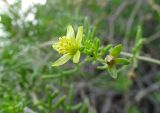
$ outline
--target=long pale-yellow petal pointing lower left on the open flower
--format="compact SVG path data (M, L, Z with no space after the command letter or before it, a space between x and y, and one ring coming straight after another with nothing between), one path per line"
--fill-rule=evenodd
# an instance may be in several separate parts
M70 54L65 54L63 55L61 58L59 58L57 61L55 61L52 66L60 66L65 64L69 59L71 59L71 55Z

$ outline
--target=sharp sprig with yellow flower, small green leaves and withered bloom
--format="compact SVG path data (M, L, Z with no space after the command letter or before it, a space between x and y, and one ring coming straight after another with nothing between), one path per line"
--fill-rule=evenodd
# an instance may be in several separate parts
M87 55L89 61L100 62L103 64L104 69L108 69L110 75L113 78L117 78L117 64L128 65L129 61L125 58L117 58L122 50L122 45L119 44L115 47L107 45L100 47L100 40L94 36L93 31L87 31L87 34L83 34L83 26L78 27L77 34L75 36L73 27L69 25L67 27L66 36L59 38L59 41L53 43L52 47L62 54L52 66L60 66L65 64L68 60L72 59L73 63L78 63L81 53ZM84 38L83 38L84 37ZM83 43L82 43L83 39ZM109 54L103 58L105 54ZM98 66L100 67L100 66Z

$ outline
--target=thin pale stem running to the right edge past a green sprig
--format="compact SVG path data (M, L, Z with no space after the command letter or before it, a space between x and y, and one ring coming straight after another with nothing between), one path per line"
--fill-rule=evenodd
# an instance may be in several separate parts
M133 57L133 54L127 53L127 52L121 52L121 55L127 56L127 57ZM160 60L145 57L145 56L137 56L136 57L138 60L146 61L146 62L151 62L160 65Z

